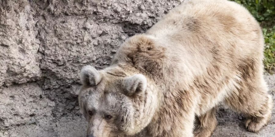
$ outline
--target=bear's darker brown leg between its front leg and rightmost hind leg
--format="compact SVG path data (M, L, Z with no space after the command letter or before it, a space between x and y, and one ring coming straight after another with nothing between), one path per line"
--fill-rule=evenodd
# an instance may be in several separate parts
M217 126L216 107L196 118L195 137L210 137Z

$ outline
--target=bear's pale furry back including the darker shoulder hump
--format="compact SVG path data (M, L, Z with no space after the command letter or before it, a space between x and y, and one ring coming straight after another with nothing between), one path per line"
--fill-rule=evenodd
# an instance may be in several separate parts
M129 38L112 64L128 62L152 77L192 84L196 77L236 78L244 66L262 68L259 24L241 5L226 0L187 1L147 33ZM126 63L127 64L127 63Z

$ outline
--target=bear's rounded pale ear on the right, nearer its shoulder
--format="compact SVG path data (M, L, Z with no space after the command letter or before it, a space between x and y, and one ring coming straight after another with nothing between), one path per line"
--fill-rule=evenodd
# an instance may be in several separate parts
M142 74L136 74L124 79L123 86L127 91L128 95L133 95L134 93L141 93L146 90L147 79Z

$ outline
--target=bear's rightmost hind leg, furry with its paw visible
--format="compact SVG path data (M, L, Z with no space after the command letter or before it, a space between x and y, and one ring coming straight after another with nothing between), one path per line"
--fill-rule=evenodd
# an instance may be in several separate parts
M225 100L229 107L247 116L245 127L248 131L258 132L271 117L272 97L267 93L262 75L244 79L240 88Z

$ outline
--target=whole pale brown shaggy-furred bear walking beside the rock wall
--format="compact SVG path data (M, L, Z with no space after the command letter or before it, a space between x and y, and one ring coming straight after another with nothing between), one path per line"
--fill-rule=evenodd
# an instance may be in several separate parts
M88 135L209 137L224 102L258 132L271 116L261 28L241 5L191 0L130 37L110 67L85 67L79 104ZM111 119L109 119L112 116ZM197 125L194 128L194 125Z

